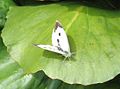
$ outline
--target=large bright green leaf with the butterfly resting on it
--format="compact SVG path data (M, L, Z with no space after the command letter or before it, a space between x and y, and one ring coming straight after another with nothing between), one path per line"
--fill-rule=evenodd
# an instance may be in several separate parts
M51 44L56 19L63 24L71 52L64 57L33 46ZM43 70L52 79L89 85L108 81L120 73L120 12L59 3L13 7L2 37L8 52L26 73Z

